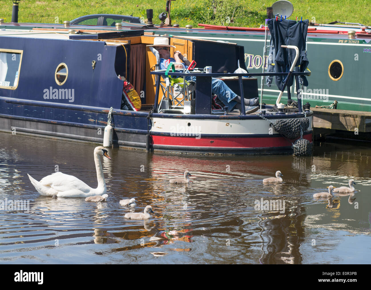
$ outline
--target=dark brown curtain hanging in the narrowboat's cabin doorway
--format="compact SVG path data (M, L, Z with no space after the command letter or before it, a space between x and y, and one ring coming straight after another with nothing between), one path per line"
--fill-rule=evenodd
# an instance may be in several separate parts
M130 46L130 80L140 96L144 91L145 80L145 44L139 43ZM142 99L143 100L143 99Z

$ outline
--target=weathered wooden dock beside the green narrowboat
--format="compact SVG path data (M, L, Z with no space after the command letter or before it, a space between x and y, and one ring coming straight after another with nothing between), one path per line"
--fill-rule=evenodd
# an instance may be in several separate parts
M371 140L371 112L311 108L315 135L340 134Z

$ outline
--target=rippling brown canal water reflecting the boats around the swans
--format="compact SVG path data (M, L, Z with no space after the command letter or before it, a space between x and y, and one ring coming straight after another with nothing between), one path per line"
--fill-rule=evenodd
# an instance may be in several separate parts
M368 142L317 143L311 157L113 148L112 160L102 159L109 197L99 203L41 196L27 177L58 170L96 187L95 146L0 133L0 263L370 263ZM185 170L189 185L169 184ZM277 170L284 183L263 185ZM354 195L313 199L349 179ZM125 219L133 210L119 205L123 198L135 198L135 212L151 205L154 215Z

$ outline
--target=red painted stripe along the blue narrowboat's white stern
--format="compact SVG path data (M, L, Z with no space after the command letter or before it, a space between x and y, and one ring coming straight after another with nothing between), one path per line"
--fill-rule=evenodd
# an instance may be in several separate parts
M312 134L303 135L304 139L312 142ZM248 138L201 138L196 136L154 136L152 135L152 144L155 145L175 145L175 146L195 146L195 147L280 147L292 146L295 141L288 141L282 136L278 137L248 137Z

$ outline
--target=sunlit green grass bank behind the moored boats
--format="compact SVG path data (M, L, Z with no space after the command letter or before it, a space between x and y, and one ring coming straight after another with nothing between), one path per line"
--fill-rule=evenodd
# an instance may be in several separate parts
M197 26L198 23L222 25L227 17L232 18L230 26L259 27L264 24L266 7L275 0L217 0L218 16L212 19L211 0L176 0L172 2L172 24ZM357 22L371 26L371 9L367 9L370 0L292 0L293 15L303 19L315 20L316 23ZM236 7L237 6L237 7ZM165 11L165 0L22 0L19 5L19 22L63 23L86 14L110 13L133 15L146 18L146 9L154 10L154 23L160 24L158 14ZM12 19L12 1L0 0L0 18L4 22ZM225 24L227 25L227 24Z

